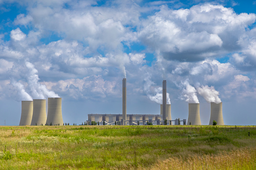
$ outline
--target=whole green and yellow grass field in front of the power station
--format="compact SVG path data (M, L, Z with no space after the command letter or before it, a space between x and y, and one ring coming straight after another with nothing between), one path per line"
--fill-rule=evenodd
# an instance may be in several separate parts
M256 127L0 126L0 169L256 169Z

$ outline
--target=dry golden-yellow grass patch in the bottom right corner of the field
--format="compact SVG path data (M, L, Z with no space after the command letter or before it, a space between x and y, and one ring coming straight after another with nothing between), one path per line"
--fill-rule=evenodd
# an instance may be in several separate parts
M256 169L256 147L214 155L189 155L186 160L170 157L159 160L150 169Z

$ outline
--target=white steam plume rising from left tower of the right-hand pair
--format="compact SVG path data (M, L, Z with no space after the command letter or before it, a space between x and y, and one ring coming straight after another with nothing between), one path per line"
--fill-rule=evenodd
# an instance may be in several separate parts
M195 87L189 84L188 80L182 82L179 87L182 89L182 95L180 96L182 100L185 100L188 103L199 103L197 91Z

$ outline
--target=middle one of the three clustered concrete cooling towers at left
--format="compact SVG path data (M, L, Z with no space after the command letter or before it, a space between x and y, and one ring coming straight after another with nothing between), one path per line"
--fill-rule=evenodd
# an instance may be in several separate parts
M34 99L33 100L33 116L31 125L45 125L46 123L46 100Z

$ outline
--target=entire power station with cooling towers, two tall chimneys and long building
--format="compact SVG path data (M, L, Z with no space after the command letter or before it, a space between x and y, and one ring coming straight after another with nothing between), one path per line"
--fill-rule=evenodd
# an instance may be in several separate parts
M187 119L172 119L171 105L166 104L167 98L166 80L162 81L162 104L160 114L127 114L126 113L126 78L122 81L122 114L88 114L87 124L97 122L99 125L201 125L200 104L189 103L189 116ZM211 103L211 116L209 125L213 120L217 125L224 125L222 116L222 102ZM174 122L174 123L173 123ZM46 100L34 99L22 101L22 113L20 126L24 125L62 125L61 98L48 98L48 113L46 116Z

